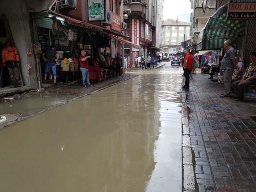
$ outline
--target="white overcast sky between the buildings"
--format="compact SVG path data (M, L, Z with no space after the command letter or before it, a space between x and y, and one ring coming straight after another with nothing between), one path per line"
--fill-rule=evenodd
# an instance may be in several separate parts
M164 0L164 20L178 18L179 21L190 22L192 12L190 0Z

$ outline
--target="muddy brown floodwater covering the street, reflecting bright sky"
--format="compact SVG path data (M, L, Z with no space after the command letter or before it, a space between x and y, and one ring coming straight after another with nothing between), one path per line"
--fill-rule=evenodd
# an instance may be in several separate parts
M139 70L0 130L0 191L180 192L182 72Z

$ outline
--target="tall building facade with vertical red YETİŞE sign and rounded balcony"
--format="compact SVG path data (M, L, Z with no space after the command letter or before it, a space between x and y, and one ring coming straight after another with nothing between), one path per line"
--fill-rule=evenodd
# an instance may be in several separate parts
M158 9L159 8L159 9ZM163 0L124 0L124 20L127 30L124 34L132 43L125 45L124 55L134 64L136 56L155 55L160 49Z

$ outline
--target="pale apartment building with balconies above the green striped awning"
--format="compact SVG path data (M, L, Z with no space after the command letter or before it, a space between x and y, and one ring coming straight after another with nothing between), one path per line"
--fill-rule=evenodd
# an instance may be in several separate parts
M190 0L191 9L193 12L190 15L192 42L195 45L197 36L204 28L208 19L216 11L216 0L208 0L206 4L206 10L203 12L202 4L203 0Z

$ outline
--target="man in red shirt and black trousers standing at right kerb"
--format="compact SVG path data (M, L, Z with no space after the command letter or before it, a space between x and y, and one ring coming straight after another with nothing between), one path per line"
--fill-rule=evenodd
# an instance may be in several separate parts
M194 64L194 57L190 54L190 49L186 49L184 52L185 58L184 58L184 75L186 78L185 85L182 87L185 90L189 90L189 75L192 71L192 67Z

